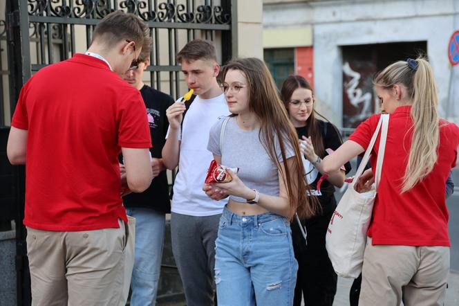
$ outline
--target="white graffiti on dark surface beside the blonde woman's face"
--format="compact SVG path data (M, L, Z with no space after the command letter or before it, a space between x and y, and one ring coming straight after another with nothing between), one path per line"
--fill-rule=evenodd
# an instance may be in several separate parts
M373 64L368 62L349 62L343 65L343 126L357 127L359 123L375 111L373 103L372 75Z

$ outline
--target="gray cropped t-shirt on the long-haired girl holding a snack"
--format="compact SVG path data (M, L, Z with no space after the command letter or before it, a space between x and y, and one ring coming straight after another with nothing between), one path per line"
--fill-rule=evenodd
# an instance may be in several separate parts
M238 177L248 188L259 190L265 195L279 196L279 175L275 163L270 159L260 142L260 129L247 131L236 123L236 116L229 118L225 127L222 152L220 152L220 135L223 121L218 120L209 132L207 150L221 156L221 164L231 168L239 168ZM276 138L276 153L279 162L283 162L279 141ZM285 157L294 156L294 151L288 139L285 147ZM229 196L234 201L245 202L241 197Z

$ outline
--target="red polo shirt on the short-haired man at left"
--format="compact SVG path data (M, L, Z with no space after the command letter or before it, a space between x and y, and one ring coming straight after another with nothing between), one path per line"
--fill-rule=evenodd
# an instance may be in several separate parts
M140 92L106 63L77 54L21 89L11 125L28 130L24 224L87 231L127 221L121 147L151 147Z

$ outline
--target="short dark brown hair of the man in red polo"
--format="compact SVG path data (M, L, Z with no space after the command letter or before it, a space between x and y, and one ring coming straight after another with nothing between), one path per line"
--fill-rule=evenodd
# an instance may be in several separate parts
M106 15L94 29L93 39L100 40L106 46L111 47L122 40L130 40L136 45L146 48L151 44L150 31L139 17L116 10Z

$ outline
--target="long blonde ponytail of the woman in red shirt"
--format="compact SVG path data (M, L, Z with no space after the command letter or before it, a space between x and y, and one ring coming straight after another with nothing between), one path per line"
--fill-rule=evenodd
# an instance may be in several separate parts
M424 57L418 57L416 60L399 61L387 66L377 74L373 83L384 89L402 84L411 100L413 138L402 182L402 192L406 192L432 171L438 159L440 128L433 71Z

